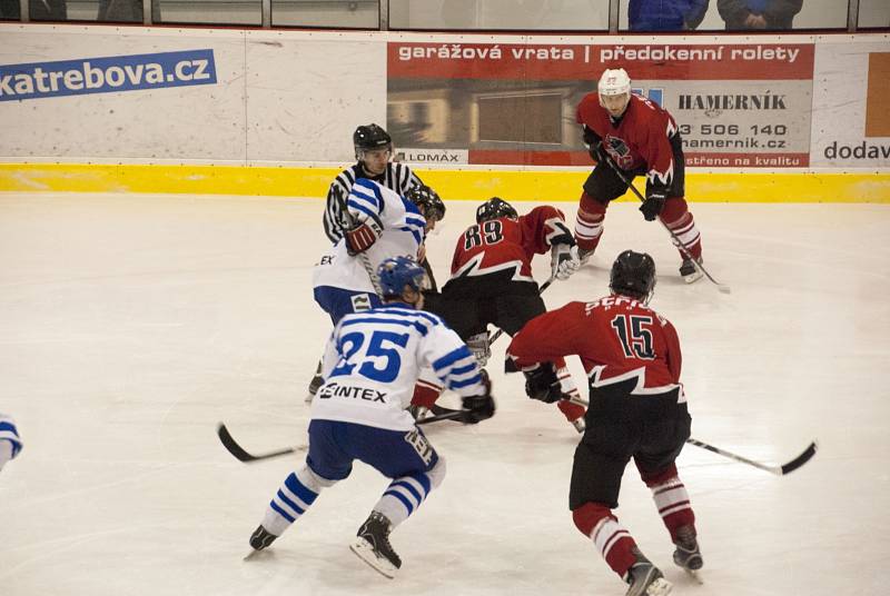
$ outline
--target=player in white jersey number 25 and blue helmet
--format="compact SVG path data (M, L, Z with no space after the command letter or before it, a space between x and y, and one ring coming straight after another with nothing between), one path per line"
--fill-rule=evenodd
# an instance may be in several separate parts
M423 367L463 399L464 421L494 415L491 383L466 345L423 307L424 269L408 257L378 269L384 304L344 316L328 340L325 383L312 406L306 463L288 475L250 536L268 547L358 459L392 483L358 530L352 550L386 577L402 560L389 533L417 510L445 475L445 461L406 410Z

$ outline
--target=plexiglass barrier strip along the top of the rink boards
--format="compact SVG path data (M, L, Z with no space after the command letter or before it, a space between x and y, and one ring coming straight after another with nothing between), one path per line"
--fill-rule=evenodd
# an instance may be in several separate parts
M0 0L7 21L395 31L890 29L888 0Z

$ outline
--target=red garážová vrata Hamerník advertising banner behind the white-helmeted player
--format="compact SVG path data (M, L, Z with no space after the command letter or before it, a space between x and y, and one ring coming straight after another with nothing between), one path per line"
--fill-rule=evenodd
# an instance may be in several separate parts
M686 165L807 168L813 43L390 41L387 115L421 161L590 165L575 108L607 68L670 111Z

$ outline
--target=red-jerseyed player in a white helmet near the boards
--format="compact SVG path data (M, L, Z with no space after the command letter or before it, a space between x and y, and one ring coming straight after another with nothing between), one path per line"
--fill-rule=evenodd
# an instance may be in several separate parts
M577 122L584 143L596 160L587 180L575 220L575 239L582 262L593 255L603 235L610 201L627 191L627 185L606 162L605 156L633 181L646 177L646 200L640 207L646 221L661 218L699 262L701 235L684 198L685 158L673 117L649 99L631 93L624 69L603 72L597 92L587 93L577 106ZM683 256L680 275L692 284L702 272Z

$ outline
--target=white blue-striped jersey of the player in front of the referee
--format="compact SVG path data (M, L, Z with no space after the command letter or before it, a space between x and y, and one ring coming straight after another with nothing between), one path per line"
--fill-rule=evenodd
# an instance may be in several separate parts
M359 178L347 197L346 206L354 221L367 222L382 230L377 241L363 254L375 270L388 258L417 258L426 220L416 205L379 182ZM343 239L315 266L313 286L374 292L362 259L348 255Z

